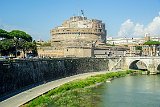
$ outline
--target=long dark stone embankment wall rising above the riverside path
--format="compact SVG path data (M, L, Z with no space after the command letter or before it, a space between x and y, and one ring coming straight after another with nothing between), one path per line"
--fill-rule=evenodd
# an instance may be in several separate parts
M0 97L66 76L109 70L108 63L96 58L0 61Z

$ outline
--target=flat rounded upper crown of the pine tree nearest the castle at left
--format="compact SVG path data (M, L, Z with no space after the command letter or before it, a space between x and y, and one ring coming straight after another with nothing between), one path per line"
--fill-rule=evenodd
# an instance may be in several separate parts
M12 38L16 37L17 39L22 38L28 42L32 41L32 37L24 31L12 30L9 34Z

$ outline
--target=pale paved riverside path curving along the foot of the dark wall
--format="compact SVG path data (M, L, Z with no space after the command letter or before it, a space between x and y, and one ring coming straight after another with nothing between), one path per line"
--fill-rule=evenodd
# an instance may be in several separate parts
M44 83L42 85L33 87L29 90L23 91L15 96L12 96L6 100L3 100L0 102L0 107L19 107L32 99L37 98L40 95L43 95L47 93L48 91L55 89L56 87L59 87L65 83L68 83L73 80L77 79L85 79L89 76L94 76L98 74L105 74L105 73L110 73L110 72L115 72L115 71L99 71L99 72L88 72L88 73L82 73L82 74L77 74L65 78L61 78L58 80L50 81L47 83Z

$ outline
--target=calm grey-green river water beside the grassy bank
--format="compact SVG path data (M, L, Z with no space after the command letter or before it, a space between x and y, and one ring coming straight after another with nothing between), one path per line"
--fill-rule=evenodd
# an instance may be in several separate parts
M100 107L160 107L160 75L127 76L96 89Z

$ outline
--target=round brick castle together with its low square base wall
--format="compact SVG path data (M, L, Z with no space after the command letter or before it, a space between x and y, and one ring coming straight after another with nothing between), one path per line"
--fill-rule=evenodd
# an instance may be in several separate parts
M84 14L70 17L50 33L51 46L40 47L40 57L91 57L95 45L106 43L105 24Z

